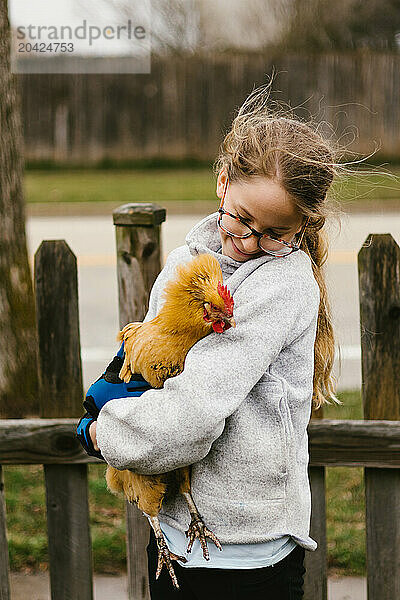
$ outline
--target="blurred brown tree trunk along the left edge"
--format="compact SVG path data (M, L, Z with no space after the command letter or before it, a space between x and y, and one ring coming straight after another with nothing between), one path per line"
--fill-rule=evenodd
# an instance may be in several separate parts
M25 234L21 121L0 0L0 417L38 414L35 301Z

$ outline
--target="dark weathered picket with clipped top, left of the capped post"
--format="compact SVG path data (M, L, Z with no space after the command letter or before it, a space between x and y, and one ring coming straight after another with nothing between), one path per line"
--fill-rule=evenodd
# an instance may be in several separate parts
M83 385L76 257L64 240L35 254L40 417L79 417ZM92 600L87 464L44 464L52 600Z

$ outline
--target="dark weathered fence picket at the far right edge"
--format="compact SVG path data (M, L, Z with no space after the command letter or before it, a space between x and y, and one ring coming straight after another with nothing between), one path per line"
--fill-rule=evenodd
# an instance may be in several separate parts
M400 419L400 248L369 234L358 253L364 419ZM400 598L400 469L364 469L368 600Z

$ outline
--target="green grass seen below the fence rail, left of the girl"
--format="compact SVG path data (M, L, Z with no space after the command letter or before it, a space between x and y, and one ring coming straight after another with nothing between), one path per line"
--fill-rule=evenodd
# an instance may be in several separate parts
M47 570L46 497L42 466L5 466L4 482L10 568ZM88 465L89 508L96 572L126 569L125 505L106 488L104 465Z

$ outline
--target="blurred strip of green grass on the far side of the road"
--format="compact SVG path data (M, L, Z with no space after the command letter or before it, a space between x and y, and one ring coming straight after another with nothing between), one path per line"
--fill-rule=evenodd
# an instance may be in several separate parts
M379 170L379 169L378 169ZM336 200L344 204L399 201L400 167L388 175L363 174L343 177L332 186ZM26 171L25 198L37 202L201 202L215 200L215 177L211 167L181 169L108 169Z

